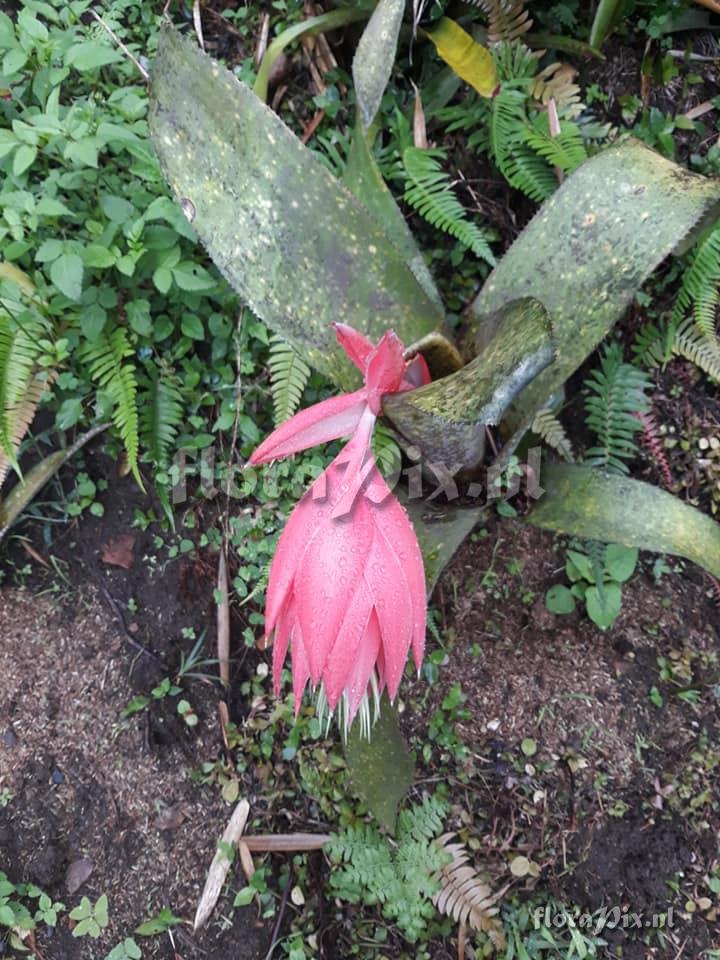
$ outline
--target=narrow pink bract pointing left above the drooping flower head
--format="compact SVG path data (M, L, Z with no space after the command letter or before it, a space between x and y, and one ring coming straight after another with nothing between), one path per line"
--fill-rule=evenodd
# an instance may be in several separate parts
M256 465L288 457L319 443L328 443L354 433L366 406L364 390L341 393L313 404L280 424L250 457Z

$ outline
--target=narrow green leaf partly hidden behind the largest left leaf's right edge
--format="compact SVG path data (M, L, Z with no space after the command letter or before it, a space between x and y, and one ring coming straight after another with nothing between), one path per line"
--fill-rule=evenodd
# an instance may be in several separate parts
M382 224L388 239L395 245L402 258L408 264L417 282L433 303L442 310L440 294L435 281L425 263L420 248L415 243L402 211L383 180L380 168L375 161L370 141L370 133L358 118L353 133L347 164L343 171L343 183L366 210ZM440 319L438 313L438 320Z

